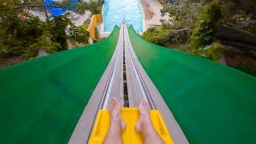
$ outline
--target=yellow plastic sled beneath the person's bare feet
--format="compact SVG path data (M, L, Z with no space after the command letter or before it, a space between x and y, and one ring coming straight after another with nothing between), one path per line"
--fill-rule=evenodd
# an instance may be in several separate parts
M126 130L122 132L122 141L125 144L143 143L142 135L136 132L134 129L134 126L138 121L139 117L138 108L122 108L121 114L123 120L126 122ZM159 136L168 144L174 143L166 127L166 124L162 119L160 111L150 110L150 116L154 129L158 132ZM94 128L90 135L89 144L102 143L106 136L109 126L109 110L99 110L96 121L94 122Z

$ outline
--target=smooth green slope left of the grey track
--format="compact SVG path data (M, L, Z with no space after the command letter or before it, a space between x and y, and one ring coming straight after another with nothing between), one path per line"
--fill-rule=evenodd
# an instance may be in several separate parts
M118 42L116 26L94 45L0 71L0 142L67 143Z

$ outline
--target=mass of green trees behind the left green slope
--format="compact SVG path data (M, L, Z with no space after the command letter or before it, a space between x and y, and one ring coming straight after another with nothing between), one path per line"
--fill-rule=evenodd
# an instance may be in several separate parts
M67 15L42 22L38 17L15 8L26 4L37 2L21 4L19 0L0 0L0 58L31 58L36 56L39 49L49 53L67 50L68 38L74 42L87 42L85 27L74 26Z

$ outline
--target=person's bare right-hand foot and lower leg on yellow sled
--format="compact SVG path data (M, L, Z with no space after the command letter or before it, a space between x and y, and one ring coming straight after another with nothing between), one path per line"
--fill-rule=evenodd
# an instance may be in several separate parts
M152 125L150 119L150 106L145 99L143 99L142 102L139 103L138 111L140 113L140 116L138 118L138 122L136 123L135 130L142 134L144 143L164 143L162 141L162 138L160 138L158 133L154 130L154 126Z

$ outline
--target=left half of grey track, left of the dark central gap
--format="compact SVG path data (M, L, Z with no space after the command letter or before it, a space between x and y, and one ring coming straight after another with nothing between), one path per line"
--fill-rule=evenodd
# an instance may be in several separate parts
M118 98L119 102L123 105L122 48L122 30L120 30L118 43L110 59L110 63L106 67L102 78L99 80L89 102L83 110L69 143L77 144L87 143L89 141L98 110L106 109L111 98Z

